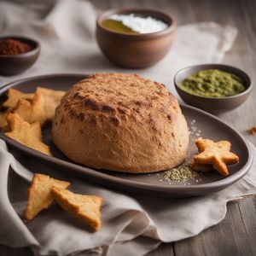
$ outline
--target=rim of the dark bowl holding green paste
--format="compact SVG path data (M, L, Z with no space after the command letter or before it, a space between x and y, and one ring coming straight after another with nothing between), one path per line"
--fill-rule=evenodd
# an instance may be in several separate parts
M239 93L237 95L234 95L234 96L224 96L224 97L210 97L210 96L208 97L208 96L200 96L200 95L197 95L197 94L190 93L190 92L188 92L186 90L183 90L177 84L177 76L179 75L179 73L182 73L184 70L186 70L186 69L189 70L189 69L191 69L193 67L201 67L201 70L207 70L207 67L216 67L216 69L223 70L222 69L223 67L228 67L228 68L234 69L235 71L239 71L240 73L242 73L243 77L241 77L240 75L237 75L237 73L234 73L234 74L236 74L241 79L243 79L244 77L247 78L247 80L248 80L247 89L242 91L241 93ZM208 69L212 69L212 68L208 68ZM225 72L227 72L227 71L225 71ZM232 72L230 72L230 73L232 73ZM253 89L252 79L249 77L249 75L246 72L244 72L243 70L241 70L240 68L235 67L235 66L230 66L230 65L226 65L226 64L218 64L218 63L198 64L198 65L191 65L191 66L188 66L188 67L183 67L182 69L177 71L177 73L175 73L173 81L174 81L175 87L178 88L178 90L182 90L184 93L188 94L189 96L199 97L199 98L204 99L204 100L210 99L210 100L216 100L216 101L224 101L226 99L234 99L234 98L237 98L239 96L246 95L247 93L249 93Z

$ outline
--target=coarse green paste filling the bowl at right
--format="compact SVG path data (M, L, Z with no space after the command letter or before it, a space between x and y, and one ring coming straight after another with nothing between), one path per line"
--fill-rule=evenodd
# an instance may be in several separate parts
M179 87L191 94L223 98L246 90L242 83L242 79L233 73L208 69L189 75Z

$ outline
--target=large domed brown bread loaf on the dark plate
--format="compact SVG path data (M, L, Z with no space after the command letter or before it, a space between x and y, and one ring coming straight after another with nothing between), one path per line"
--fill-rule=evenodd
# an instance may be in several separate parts
M52 138L75 162L134 173L177 166L189 145L186 120L165 85L122 73L91 75L68 90Z

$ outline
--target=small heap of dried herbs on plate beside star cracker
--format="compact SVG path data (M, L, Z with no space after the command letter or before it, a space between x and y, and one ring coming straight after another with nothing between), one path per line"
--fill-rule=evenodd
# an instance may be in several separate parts
M193 171L190 166L185 164L164 172L164 178L168 181L186 182L188 180L195 180L195 177L198 176L198 172Z

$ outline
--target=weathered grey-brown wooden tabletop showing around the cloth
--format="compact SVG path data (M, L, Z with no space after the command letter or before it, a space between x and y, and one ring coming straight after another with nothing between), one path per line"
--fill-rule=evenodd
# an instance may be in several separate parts
M177 19L178 25L216 21L238 28L234 47L224 57L224 63L241 67L256 80L256 1L253 0L97 0L98 9L115 7L147 7L162 9ZM189 45L189 44L188 44ZM243 105L219 117L236 128L247 140L256 145L256 135L247 134L256 125L256 88L253 96ZM255 170L256 172L256 170ZM183 241L161 244L148 256L162 255L256 255L256 198L250 196L230 202L224 220L198 236ZM28 248L10 248L0 245L0 255L30 256Z

